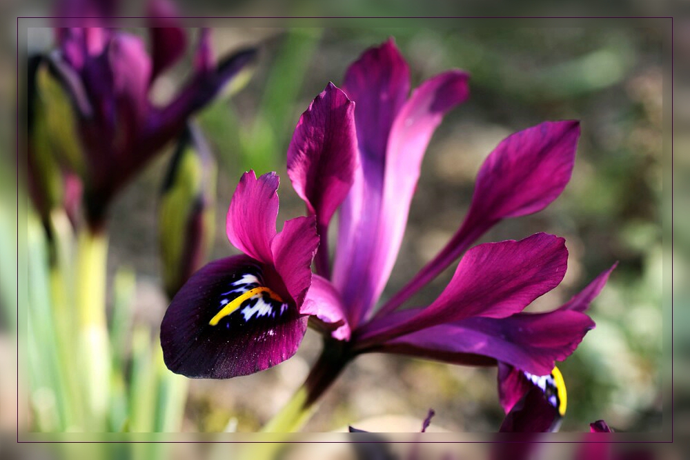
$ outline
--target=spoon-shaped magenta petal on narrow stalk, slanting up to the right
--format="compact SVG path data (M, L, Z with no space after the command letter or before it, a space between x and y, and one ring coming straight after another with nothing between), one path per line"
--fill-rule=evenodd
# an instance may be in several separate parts
M472 204L460 229L382 313L401 306L501 219L546 208L570 180L579 137L578 121L549 121L504 139L477 174Z

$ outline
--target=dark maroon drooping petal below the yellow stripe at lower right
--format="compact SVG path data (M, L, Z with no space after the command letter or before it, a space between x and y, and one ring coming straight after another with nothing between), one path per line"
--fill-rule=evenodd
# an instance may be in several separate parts
M546 401L542 391L533 387L506 415L499 432L553 432L558 430L560 419L558 410L553 408L549 401Z

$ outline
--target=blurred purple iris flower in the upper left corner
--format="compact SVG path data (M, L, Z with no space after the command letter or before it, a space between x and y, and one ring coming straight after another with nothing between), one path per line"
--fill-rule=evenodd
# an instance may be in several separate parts
M68 15L77 14L81 3L90 7L86 11L101 14L114 8L108 1L63 3ZM92 27L57 28L58 49L46 57L77 112L81 154L67 160L84 183L86 217L92 228L102 225L115 192L179 136L188 117L211 101L256 54L246 49L215 63L208 30L202 30L188 83L164 106L157 106L149 99L152 84L182 57L187 37L170 19L175 16L170 3L150 1L148 16L151 56L141 37L109 28L106 16L88 19Z

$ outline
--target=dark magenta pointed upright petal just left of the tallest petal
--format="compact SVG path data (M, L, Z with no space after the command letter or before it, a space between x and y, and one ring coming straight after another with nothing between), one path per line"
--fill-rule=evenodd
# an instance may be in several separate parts
M295 192L326 228L353 183L357 168L355 103L328 83L302 114L288 148Z

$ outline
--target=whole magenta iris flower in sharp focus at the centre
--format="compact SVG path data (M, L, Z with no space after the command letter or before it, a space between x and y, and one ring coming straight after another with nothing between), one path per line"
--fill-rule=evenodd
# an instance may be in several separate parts
M244 175L227 223L230 242L246 255L210 263L172 300L161 326L168 367L188 377L256 372L290 357L307 321L325 337L306 382L308 403L364 352L501 362L540 376L569 356L593 328L584 312L521 313L562 280L564 239L538 233L470 246L502 219L538 212L558 197L571 177L577 121L542 123L502 141L480 168L460 229L377 308L424 152L444 114L469 96L468 79L449 70L408 94L407 63L389 40L348 68L342 90L330 83L302 114L288 148L288 175L308 217L288 221L276 234L277 177ZM400 308L463 253L435 301Z

